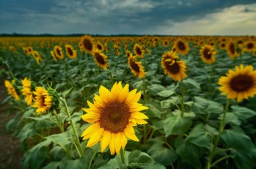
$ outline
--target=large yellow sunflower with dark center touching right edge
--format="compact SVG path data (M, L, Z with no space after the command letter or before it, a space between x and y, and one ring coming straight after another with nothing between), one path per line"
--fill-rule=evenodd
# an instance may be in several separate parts
M235 70L228 70L226 76L221 76L218 84L223 95L228 99L237 99L242 101L256 95L256 70L253 66L236 66Z

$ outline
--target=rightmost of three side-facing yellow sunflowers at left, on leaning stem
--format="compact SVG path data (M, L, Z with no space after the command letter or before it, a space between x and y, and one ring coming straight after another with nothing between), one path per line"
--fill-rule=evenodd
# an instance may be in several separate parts
M36 113L44 113L49 110L53 105L53 97L49 94L48 91L42 87L36 87L36 91L33 92L35 97L35 103L33 107L36 107Z

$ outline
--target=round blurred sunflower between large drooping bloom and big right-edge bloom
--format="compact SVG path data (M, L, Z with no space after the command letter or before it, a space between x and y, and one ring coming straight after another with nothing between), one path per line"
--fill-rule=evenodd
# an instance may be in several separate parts
M201 59L203 60L203 62L207 63L207 64L212 64L215 62L215 57L214 55L216 54L216 49L214 48L214 46L210 46L210 45L205 45L201 47L200 50L201 53Z

